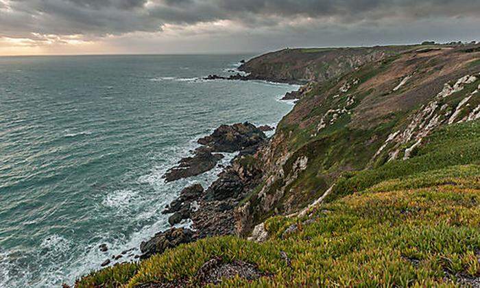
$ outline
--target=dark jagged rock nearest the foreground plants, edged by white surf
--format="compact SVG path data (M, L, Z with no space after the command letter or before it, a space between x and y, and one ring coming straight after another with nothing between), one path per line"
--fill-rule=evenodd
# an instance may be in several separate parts
M165 250L175 248L180 244L195 241L193 231L187 228L171 228L165 232L157 233L149 241L144 241L140 245L143 253L141 259L147 259L153 254L161 254Z

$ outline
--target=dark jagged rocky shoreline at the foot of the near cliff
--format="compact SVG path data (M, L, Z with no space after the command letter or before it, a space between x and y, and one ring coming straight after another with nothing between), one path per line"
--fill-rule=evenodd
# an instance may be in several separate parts
M267 125L257 128L248 122L221 125L211 135L199 139L197 143L202 146L195 149L195 156L180 160L178 167L167 172L166 181L197 175L193 172L203 170L199 167L215 167L210 164L217 159L215 155L221 154L213 153L237 152L238 155L219 173L219 178L210 187L204 189L200 184L186 187L176 200L165 207L163 213L170 215L171 226L191 219L191 229L172 227L157 233L152 239L141 243L141 259L204 237L235 235L235 208L259 184L263 175L251 159L268 143L263 131L272 129Z

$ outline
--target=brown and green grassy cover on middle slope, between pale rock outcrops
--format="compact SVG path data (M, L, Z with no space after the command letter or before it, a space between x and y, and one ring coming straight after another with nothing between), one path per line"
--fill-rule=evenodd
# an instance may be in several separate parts
M309 165L305 171L302 171L296 180L285 186L285 178L276 178L274 184L266 190L267 195L275 195L278 187L285 186L285 193L282 198L275 202L274 208L269 211L263 211L261 204L256 195L252 193L251 202L254 203L252 208L253 222L258 224L270 217L274 211L280 213L291 213L296 209L304 206L305 203L312 202L320 197L328 187L333 184L341 173L344 171L358 171L368 167L377 167L383 165L388 149L384 149L384 153L377 158L376 163L371 163L370 159L375 152L383 145L383 142L390 133L404 128L410 121L409 116L420 108L422 104L427 103L438 92L447 80L458 79L458 75L450 75L445 79L441 79L446 73L459 73L463 76L472 71L479 71L480 67L474 62L464 60L464 53L440 54L437 56L425 56L424 54L415 55L414 53L404 53L386 58L379 62L372 62L363 65L361 69L348 73L343 77L329 82L317 84L307 95L305 95L296 105L296 108L287 115L278 125L276 135L283 135L283 139L276 147L276 154L285 154L285 151L292 152L293 155L289 161L283 166L285 175L289 174L290 167L295 161L302 157L309 158ZM475 59L475 56L472 55ZM461 59L461 60L460 60ZM455 66L461 64L460 66ZM399 70L399 67L401 69ZM470 69L470 70L469 70ZM473 69L473 70L471 70ZM392 76L392 71L398 70ZM403 88L396 93L392 93L392 89L400 82L405 75L415 71L415 77L412 78ZM456 71L456 72L452 72ZM463 71L463 72L460 72ZM435 75L435 77L432 77ZM388 76L388 77L387 77ZM430 86L435 83L437 91L423 91L423 86ZM441 79L441 80L440 80ZM345 82L353 82L359 80L358 84L352 85L348 93L341 93L339 97L335 97L339 93L339 87ZM377 81L378 80L378 81ZM425 82L427 81L427 84ZM468 84L463 91L459 91L444 99L441 104L456 104L466 97L470 92L479 86L480 80ZM432 84L433 85L433 84ZM352 113L339 116L333 125L317 132L317 125L322 115L330 109L341 108L346 105L350 96L355 96L355 103L348 106L348 110ZM425 95L423 99L418 99L415 104L400 104L394 102L396 99L411 99L417 95ZM478 98L478 97L477 97ZM368 99L369 104L363 104L363 100ZM374 101L372 101L374 100ZM376 106L377 103L385 101L383 106ZM390 104L391 101L392 104ZM367 107L367 108L365 108ZM475 107L475 105L472 105ZM387 112L384 112L387 110ZM375 111L371 113L370 111ZM378 111L378 112L377 112ZM370 112L375 118L362 119L361 115ZM461 116L463 117L463 115ZM327 122L331 118L327 118ZM370 124L370 125L369 125ZM413 143L409 143L412 145ZM467 153L478 153L479 147L472 143L471 149ZM387 147L388 148L388 147ZM450 165L450 158L456 158L466 147L452 148L448 151L449 155L431 155L431 165ZM471 154L470 153L470 154ZM433 158L435 157L435 159ZM413 173L425 169L424 167L416 167L416 171L396 171L403 169L401 161L389 163L385 169L392 167L388 173ZM365 174L365 178L381 177L375 174L376 171L369 171ZM383 172L387 173L387 171ZM330 198L346 195L348 189L359 191L363 187L357 187L352 181L347 181L346 177L351 177L355 173L346 173L341 182L335 187L335 193ZM363 175L363 174L362 174ZM359 176L360 177L360 176ZM374 179L370 179L374 181ZM344 186L342 186L344 185Z

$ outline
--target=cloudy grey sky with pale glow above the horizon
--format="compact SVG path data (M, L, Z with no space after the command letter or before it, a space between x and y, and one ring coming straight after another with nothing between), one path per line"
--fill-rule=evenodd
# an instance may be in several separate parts
M0 0L0 56L480 40L480 0Z

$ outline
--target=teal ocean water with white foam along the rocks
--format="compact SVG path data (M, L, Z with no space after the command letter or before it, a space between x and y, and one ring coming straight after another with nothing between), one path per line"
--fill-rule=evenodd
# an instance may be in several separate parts
M165 205L220 171L165 184L196 139L292 107L296 86L199 79L249 57L0 58L0 287L71 284L169 228Z

